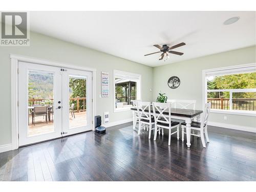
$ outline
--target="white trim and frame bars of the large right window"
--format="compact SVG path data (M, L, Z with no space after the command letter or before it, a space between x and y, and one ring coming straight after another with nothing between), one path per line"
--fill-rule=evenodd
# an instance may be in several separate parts
M232 70L234 68L244 68L244 67L255 67L256 63L248 63L245 65L238 65L238 66L228 66L222 68L214 68L214 69L207 69L202 71L202 86L203 86L203 103L202 107L204 108L205 103L207 102L207 92L219 92L219 91L227 91L227 90L207 90L207 81L206 81L206 73L213 72L213 71L221 71L221 70ZM232 93L239 93L239 92L255 92L256 89L231 89L230 92ZM232 114L232 115L245 115L245 116L254 116L256 117L256 112L254 111L242 111L242 110L217 110L211 109L211 113L221 113L221 114Z

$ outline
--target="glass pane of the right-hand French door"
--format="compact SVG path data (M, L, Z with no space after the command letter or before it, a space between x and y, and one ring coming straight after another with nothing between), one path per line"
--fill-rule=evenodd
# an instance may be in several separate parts
M87 125L86 76L69 75L69 127Z

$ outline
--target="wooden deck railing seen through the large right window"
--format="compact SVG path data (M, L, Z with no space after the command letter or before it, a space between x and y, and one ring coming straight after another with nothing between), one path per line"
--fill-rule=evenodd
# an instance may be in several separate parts
M229 98L207 98L211 109L230 110ZM256 98L232 98L232 110L256 111Z

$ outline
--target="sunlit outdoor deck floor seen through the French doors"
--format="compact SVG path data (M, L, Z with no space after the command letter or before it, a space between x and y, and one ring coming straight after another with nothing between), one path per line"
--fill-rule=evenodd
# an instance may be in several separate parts
M75 118L69 114L70 127L79 127L87 124L86 111L75 113ZM35 125L32 124L32 117L29 117L29 136L52 132L54 129L54 115L51 121L46 123L45 117L35 117Z

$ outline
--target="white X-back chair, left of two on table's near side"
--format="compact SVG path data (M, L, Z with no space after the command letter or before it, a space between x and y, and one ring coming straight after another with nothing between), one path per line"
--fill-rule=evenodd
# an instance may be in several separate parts
M148 112L146 112L148 111ZM151 114L151 102L142 102L137 101L137 112L139 115L139 129L138 135L140 135L140 130L142 125L149 125L148 131L148 139L151 138L151 132L155 129L153 125L155 124L154 116Z

